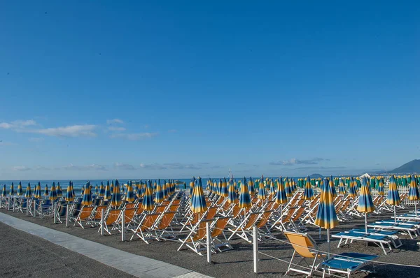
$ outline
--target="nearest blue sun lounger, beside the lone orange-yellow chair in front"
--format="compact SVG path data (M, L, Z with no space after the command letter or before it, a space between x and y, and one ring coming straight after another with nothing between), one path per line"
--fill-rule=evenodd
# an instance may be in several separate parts
M331 272L344 273L347 277L350 277L351 272L362 268L364 265L373 261L378 256L376 255L367 255L360 253L342 253L332 258L329 258L326 261L323 261L320 265L323 268L323 275L325 277L325 272L328 271L328 274Z

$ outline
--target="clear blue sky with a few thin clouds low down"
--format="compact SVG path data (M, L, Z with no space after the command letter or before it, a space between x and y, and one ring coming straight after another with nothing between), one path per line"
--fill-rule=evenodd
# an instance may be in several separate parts
M279 2L3 1L0 180L418 159L419 2Z

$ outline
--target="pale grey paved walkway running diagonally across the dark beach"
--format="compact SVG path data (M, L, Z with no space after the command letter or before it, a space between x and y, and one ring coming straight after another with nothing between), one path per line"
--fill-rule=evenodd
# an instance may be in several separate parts
M0 221L20 231L30 233L55 243L78 254L109 265L136 277L166 278L166 277L208 277L186 268L164 263L153 258L146 258L135 254L107 247L104 244L83 240L80 237L33 224L31 222L11 217L0 212Z

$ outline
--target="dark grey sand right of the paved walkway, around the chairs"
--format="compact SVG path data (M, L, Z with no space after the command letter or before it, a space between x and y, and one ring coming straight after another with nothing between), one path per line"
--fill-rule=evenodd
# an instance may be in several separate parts
M407 210L399 210L399 213L402 213ZM84 238L86 240L92 240L94 242L99 242L105 244L109 247L114 247L121 249L123 251L130 252L132 254L137 254L141 256L146 256L149 258L155 258L166 263L172 263L174 265L179 265L180 267L194 270L205 275L212 277L279 277L284 276L288 261L293 254L293 248L290 244L287 244L286 237L281 232L273 233L276 239L270 239L264 242L260 242L259 251L263 254L260 254L260 262L258 265L259 275L256 275L253 272L253 246L252 244L245 242L244 240L232 240L231 244L234 248L231 251L225 251L223 253L214 254L212 256L212 263L209 264L206 261L205 256L199 256L189 249L183 249L181 251L176 251L178 249L180 242L176 241L160 241L160 242L151 242L146 244L141 240L125 241L121 242L121 237L119 233L113 235L104 235L101 236L97 233L97 228L80 228L80 226L73 227L73 224L69 228L66 228L65 224L53 224L52 219L50 218L33 218L27 217L25 214L20 212L11 212L6 210L1 210L1 212L13 215L20 219L25 219L27 221L45 226L48 228L53 228L57 231L63 231L71 235L76 235L78 237ZM391 217L391 213L388 214L371 214L368 218L369 221L374 221L376 219L388 219ZM319 229L314 226L308 226L308 233L314 237L318 247L323 250L328 250L328 243L326 242L326 232L321 230L321 237L319 234ZM353 220L340 223L337 228L334 228L331 233L337 233L340 231L347 231L351 228L364 228L364 219L363 218L354 218ZM6 232L8 229L5 228L5 225L0 226L0 233L3 235L3 230ZM25 233L24 233L25 234ZM131 233L127 233L126 236L128 239L131 237ZM1 245L7 245L8 240L7 236L1 237ZM13 241L19 242L25 238L24 236L15 237ZM331 252L334 254L340 254L343 252L360 252L365 254L377 254L379 262L388 262L388 263L401 263L407 265L419 265L420 264L420 251L419 251L419 238L411 240L407 235L400 235L402 240L402 247L394 249L388 255L385 255L379 247L374 245L367 245L363 242L354 242L349 246L340 247L337 249L338 241L333 239L331 240L330 248ZM52 244L54 245L54 244ZM57 247L61 248L61 247ZM41 253L50 253L50 244L45 245L45 249ZM73 252L71 252L73 254ZM269 255L266 256L265 254ZM78 254L74 254L74 260L78 260ZM36 262L42 261L44 265L47 265L48 261L53 261L53 258L42 258L41 256L38 259L37 255L31 255L36 258ZM21 261L22 257L19 254L11 254L8 256L10 261ZM15 257L13 259L13 257ZM272 258L274 257L274 258ZM42 259L41 259L42 258ZM280 261L281 260L281 261ZM35 261L34 261L34 264ZM87 268L90 263L81 263ZM99 263L100 264L100 263ZM64 268L64 265L63 265ZM365 272L358 272L358 274L353 275L352 277L401 277L405 275L407 277L420 277L420 268L410 268L403 266L395 265L386 265L383 263L375 263L374 268L372 266L367 267L368 270L375 270L376 273L367 275ZM3 271L3 270L1 270ZM117 271L117 270L116 270ZM71 271L68 272L71 274ZM317 273L319 274L319 273ZM300 277L297 273L291 273L291 276ZM64 275L65 276L65 275ZM96 276L96 275L95 275Z

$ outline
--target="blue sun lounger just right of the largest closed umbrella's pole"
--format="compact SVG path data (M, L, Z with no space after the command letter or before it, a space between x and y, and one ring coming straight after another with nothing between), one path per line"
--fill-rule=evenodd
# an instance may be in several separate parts
M372 242L376 244L378 247L384 251L384 254L387 255L387 251L385 246L388 247L389 251L392 251L391 244L393 244L393 240L391 240L388 235L374 235L370 233L357 233L355 231L346 231L341 233L336 233L331 235L331 237L339 238L339 242L337 248L339 248L342 244L349 244L353 241L363 241L363 242Z

